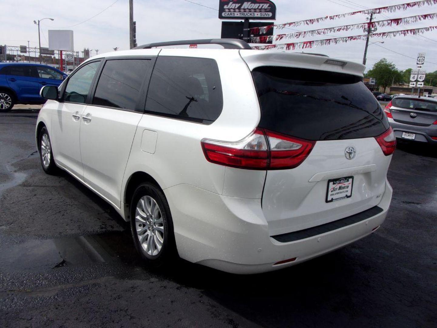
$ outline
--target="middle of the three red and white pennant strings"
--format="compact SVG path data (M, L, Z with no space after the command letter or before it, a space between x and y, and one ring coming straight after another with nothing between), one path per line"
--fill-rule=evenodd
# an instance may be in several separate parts
M423 15L409 16L409 17L403 17L403 18L386 19L383 21L372 21L372 22L359 23L359 24L342 25L342 26L336 26L336 27L332 27L332 28L319 28L317 30L311 30L311 31L299 31L299 32L293 32L293 33L287 33L287 34L257 36L257 37L249 38L249 42L250 43L270 43L272 41L280 41L283 39L305 38L307 36L324 35L324 34L328 34L328 33L340 32L340 31L349 31L352 29L362 29L365 32L368 30L368 28L375 28L377 26L378 27L385 27L385 26L393 26L393 25L412 24L412 23L416 23L418 21L423 21L423 20L427 20L427 19L434 19L436 17L437 17L437 13L423 14Z

